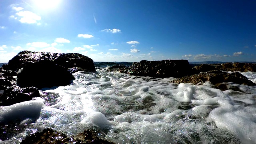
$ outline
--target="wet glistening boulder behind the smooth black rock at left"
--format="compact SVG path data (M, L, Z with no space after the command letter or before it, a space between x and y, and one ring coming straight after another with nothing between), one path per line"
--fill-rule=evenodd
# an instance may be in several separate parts
M8 69L18 71L29 63L35 63L41 60L50 60L54 64L64 68L81 67L86 70L95 71L94 63L91 58L78 53L50 53L50 52L19 52L14 58L9 60Z

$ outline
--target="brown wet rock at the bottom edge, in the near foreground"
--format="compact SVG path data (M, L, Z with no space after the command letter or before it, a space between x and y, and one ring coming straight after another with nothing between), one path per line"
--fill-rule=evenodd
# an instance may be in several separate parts
M77 136L67 137L65 134L52 130L44 129L42 132L36 132L22 140L20 144L114 144L107 140L102 140L96 136L96 133L85 130Z

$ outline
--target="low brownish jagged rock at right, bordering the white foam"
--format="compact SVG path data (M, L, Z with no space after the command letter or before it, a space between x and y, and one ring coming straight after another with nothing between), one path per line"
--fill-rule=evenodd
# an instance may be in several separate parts
M213 70L208 72L202 72L200 74L194 74L192 76L185 76L182 78L178 78L173 80L174 83L194 83L198 84L199 82L210 81L216 88L221 90L227 90L225 86L222 85L223 82L234 82L236 84L245 84L248 86L256 86L255 83L248 80L245 76L240 74L239 72L234 72L229 74L227 72L221 72L219 70Z

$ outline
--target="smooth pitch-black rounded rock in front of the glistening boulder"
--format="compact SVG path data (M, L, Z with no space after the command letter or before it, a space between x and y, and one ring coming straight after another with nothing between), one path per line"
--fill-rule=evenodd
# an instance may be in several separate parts
M50 60L40 60L24 66L18 74L17 85L25 88L51 88L53 86L66 86L71 84L74 76L62 66Z

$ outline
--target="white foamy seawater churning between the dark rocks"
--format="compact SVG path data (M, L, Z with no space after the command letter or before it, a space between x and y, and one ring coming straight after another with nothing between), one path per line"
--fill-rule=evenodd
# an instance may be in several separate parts
M174 84L106 69L76 72L71 86L0 107L0 143L18 144L44 128L68 136L92 129L117 144L256 143L255 86L230 82L233 90L221 91L209 82ZM255 72L242 74L256 82Z

